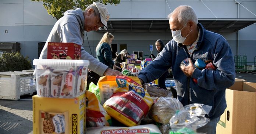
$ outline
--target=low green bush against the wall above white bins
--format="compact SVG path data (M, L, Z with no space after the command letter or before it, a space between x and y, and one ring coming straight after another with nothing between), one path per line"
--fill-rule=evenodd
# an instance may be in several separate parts
M19 52L0 54L0 72L22 71L32 69L31 59L23 57Z

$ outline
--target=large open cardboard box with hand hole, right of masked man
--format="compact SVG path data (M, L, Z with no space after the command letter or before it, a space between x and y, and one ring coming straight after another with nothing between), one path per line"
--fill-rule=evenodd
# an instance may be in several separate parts
M256 83L235 82L226 89L226 101L216 134L256 134Z

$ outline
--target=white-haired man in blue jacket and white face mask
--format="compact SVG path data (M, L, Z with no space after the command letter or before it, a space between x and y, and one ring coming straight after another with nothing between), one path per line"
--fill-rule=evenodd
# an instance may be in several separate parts
M231 48L223 36L206 30L198 23L190 6L177 7L168 18L173 39L138 77L142 83L148 83L172 67L178 100L184 106L192 103L212 106L207 116L210 122L198 128L197 132L215 134L220 115L227 107L225 89L235 82ZM189 58L189 65L180 66L185 58ZM212 61L217 69L200 70L193 65L197 59Z

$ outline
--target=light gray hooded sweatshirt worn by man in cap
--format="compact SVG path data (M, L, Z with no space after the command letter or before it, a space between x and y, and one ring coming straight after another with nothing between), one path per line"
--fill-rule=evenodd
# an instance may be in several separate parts
M86 52L83 48L83 36L84 36L84 24L85 18L81 8L76 10L68 10L64 13L53 26L53 29L48 36L48 39L43 47L39 59L47 58L47 44L48 42L64 42L75 43L81 45L81 59L88 60L90 62L89 69L103 76L108 66L102 64L92 55Z

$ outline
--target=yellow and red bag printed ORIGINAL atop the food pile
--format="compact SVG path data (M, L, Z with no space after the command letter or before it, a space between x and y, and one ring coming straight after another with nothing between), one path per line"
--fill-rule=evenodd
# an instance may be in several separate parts
M142 86L127 76L116 76L113 94L103 107L107 113L126 126L138 125L147 114L153 100ZM99 86L102 86L99 80ZM106 86L106 85L105 85Z

